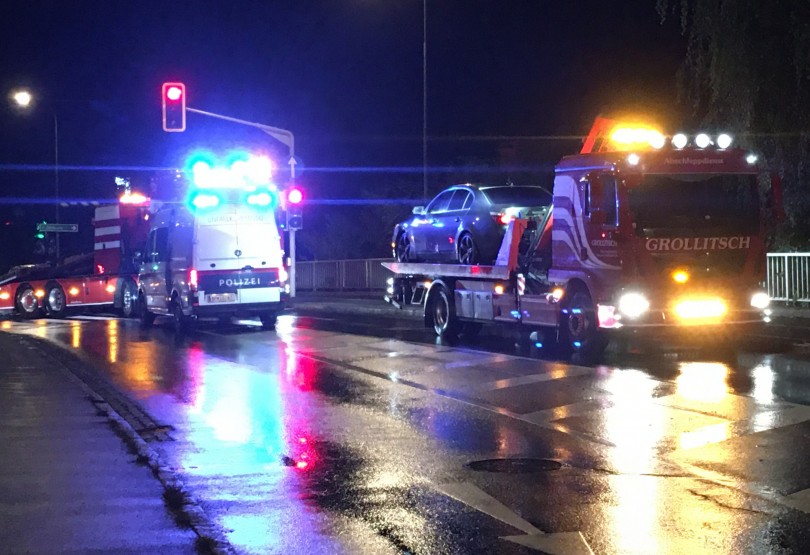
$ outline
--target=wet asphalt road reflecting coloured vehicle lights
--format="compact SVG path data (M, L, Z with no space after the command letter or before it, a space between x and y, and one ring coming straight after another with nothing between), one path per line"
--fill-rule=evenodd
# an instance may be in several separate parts
M137 400L244 553L803 553L810 357L515 356L311 313L3 322ZM483 348L482 348L483 347ZM163 428L166 426L166 428Z

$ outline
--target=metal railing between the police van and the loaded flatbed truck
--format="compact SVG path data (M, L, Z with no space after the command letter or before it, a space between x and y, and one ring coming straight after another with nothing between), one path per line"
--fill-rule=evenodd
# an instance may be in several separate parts
M363 260L316 260L296 262L295 288L299 291L384 291L391 272L381 262L390 258Z

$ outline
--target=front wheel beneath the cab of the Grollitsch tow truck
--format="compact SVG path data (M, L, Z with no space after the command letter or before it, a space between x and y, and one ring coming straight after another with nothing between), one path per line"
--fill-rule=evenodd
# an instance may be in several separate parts
M607 336L599 329L596 308L587 291L575 290L565 306L560 339L568 352L591 361L605 351Z

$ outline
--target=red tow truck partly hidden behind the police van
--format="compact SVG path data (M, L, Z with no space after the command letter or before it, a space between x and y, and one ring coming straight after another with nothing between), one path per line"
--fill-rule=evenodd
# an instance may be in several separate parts
M127 192L101 205L93 218L91 252L60 264L13 268L0 282L0 314L23 319L63 318L76 308L112 308L135 315L137 268L149 230L149 199Z

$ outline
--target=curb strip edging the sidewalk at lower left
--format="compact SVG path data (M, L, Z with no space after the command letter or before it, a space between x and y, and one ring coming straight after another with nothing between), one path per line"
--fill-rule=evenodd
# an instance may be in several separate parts
M107 401L74 374L61 360L39 349L37 340L18 335L24 343L42 352L55 362L56 367L87 395L88 400L108 418L113 431L137 455L137 463L144 464L163 486L163 501L176 522L188 526L197 536L195 549L205 555L237 555L227 539L225 531L208 517L200 502L194 497L182 478L163 461L160 454L147 443ZM42 340L44 341L44 340ZM58 346L57 346L58 347Z

